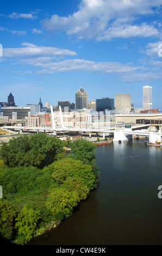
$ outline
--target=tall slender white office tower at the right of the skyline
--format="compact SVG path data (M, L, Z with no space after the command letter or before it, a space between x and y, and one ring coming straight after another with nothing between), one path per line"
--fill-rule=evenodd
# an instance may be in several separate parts
M152 87L143 87L143 107L144 109L152 109Z

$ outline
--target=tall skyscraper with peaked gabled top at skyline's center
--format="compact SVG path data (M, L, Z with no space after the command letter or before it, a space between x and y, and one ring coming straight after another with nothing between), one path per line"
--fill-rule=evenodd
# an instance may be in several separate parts
M76 109L88 108L88 94L82 87L76 93Z

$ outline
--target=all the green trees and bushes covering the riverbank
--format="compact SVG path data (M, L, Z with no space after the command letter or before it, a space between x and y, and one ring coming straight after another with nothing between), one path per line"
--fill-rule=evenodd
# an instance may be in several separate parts
M71 148L68 154L64 148ZM97 187L96 145L23 135L0 150L0 239L23 245L58 227Z

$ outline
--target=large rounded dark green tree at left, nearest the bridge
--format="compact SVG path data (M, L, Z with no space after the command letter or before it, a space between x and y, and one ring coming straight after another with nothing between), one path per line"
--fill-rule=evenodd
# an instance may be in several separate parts
M36 166L43 168L61 157L65 157L64 143L46 133L13 138L3 143L0 156L9 167Z

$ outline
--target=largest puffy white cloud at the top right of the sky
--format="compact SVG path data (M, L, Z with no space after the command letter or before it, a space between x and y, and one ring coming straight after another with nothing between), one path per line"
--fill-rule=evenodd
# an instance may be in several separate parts
M51 19L43 20L43 28L50 32L65 31L80 39L153 36L158 34L153 25L132 22L141 15L153 14L161 5L162 0L82 0L76 13L66 17L52 15Z

